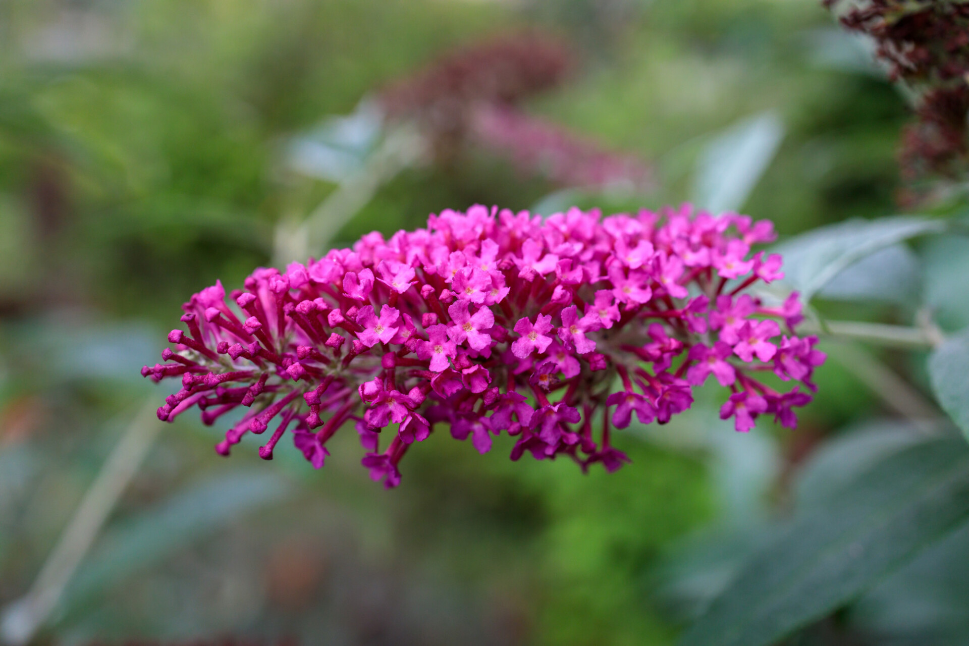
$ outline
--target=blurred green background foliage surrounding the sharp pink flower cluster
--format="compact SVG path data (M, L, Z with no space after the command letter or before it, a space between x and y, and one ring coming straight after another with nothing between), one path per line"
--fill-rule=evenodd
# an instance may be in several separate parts
M785 135L745 212L791 236L895 209L909 108L815 0L8 0L0 605L29 588L144 397L167 394L138 369L156 360L180 303L216 278L238 286L269 261L275 223L334 190L286 169L288 138L453 46L523 25L563 35L581 61L527 109L641 155L660 180L645 196L565 199L607 211L692 199L709 142L769 111ZM474 202L527 208L554 188L468 152L400 173L338 240ZM959 242L917 245L924 272L964 267ZM949 292L929 292L948 329L966 323ZM819 307L911 316L891 297ZM222 460L217 431L180 419L39 639L673 643L737 555L796 506L814 449L897 415L838 347L825 350L797 431L737 435L716 419L716 394L702 392L669 427L620 434L633 464L611 476L511 463L501 441L479 456L437 433L385 492L359 467L352 433L314 472L295 449L265 463L243 445ZM918 354L879 356L914 375L917 393L926 387ZM961 539L948 539L951 552L965 553ZM943 625L956 627L947 639L966 634L955 573L969 564L945 563L949 583L923 575L931 564L899 574L928 591L921 606L895 576L797 643L926 644L925 627Z

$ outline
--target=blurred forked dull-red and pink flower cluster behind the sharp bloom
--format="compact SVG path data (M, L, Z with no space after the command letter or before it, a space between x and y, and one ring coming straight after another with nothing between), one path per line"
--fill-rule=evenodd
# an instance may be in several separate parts
M651 170L635 156L518 110L574 68L571 48L559 39L539 31L503 35L445 55L391 84L379 100L391 118L416 122L444 162L473 144L561 186L651 189Z

